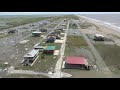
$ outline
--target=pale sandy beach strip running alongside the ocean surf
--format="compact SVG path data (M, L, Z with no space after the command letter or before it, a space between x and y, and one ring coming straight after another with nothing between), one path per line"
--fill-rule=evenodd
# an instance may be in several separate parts
M116 45L120 46L120 32L117 31L116 27L111 25L107 25L104 22L96 21L84 16L80 16L80 18L85 19L87 22L92 24L92 27L89 30L82 30L84 33L87 34L95 34L99 33L102 34L110 39L112 39Z

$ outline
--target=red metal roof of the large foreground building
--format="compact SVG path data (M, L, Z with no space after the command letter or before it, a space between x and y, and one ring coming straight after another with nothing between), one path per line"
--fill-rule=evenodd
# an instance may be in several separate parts
M86 64L84 57L67 57L67 64Z

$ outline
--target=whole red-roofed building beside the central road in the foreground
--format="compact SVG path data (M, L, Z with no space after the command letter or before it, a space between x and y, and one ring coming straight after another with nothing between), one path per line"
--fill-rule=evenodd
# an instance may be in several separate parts
M84 57L67 57L65 68L89 69L87 59Z

